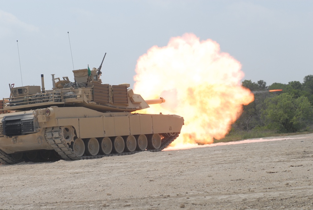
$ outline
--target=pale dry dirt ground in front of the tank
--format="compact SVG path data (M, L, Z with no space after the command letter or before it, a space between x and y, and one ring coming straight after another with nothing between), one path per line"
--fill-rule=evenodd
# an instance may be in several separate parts
M0 209L313 209L313 134L0 166Z

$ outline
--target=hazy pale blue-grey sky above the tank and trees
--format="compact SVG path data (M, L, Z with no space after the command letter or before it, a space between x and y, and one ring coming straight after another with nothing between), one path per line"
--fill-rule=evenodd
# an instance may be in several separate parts
M8 84L41 85L41 74L46 90L51 74L73 81L73 69L98 68L105 53L102 83L133 87L137 59L184 33L216 41L243 80L302 83L313 74L312 26L305 0L0 0L0 97Z

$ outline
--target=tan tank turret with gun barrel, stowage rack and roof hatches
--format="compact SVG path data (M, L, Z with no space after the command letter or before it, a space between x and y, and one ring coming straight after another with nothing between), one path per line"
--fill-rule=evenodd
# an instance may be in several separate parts
M94 68L73 70L74 82L68 77L54 78L53 89L40 91L40 86L11 88L11 97L3 99L3 110L33 110L49 106L86 107L107 112L133 112L149 108L149 104L163 103L164 99L144 100L135 94L129 84L102 84ZM43 75L42 75L43 78ZM44 84L42 84L44 87ZM44 89L44 88L43 88Z

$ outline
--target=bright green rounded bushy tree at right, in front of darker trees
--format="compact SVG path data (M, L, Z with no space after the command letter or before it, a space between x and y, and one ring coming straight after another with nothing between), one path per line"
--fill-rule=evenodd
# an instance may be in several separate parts
M270 130L279 132L297 132L312 122L313 107L305 96L295 98L282 93L265 100L266 109L262 118Z

